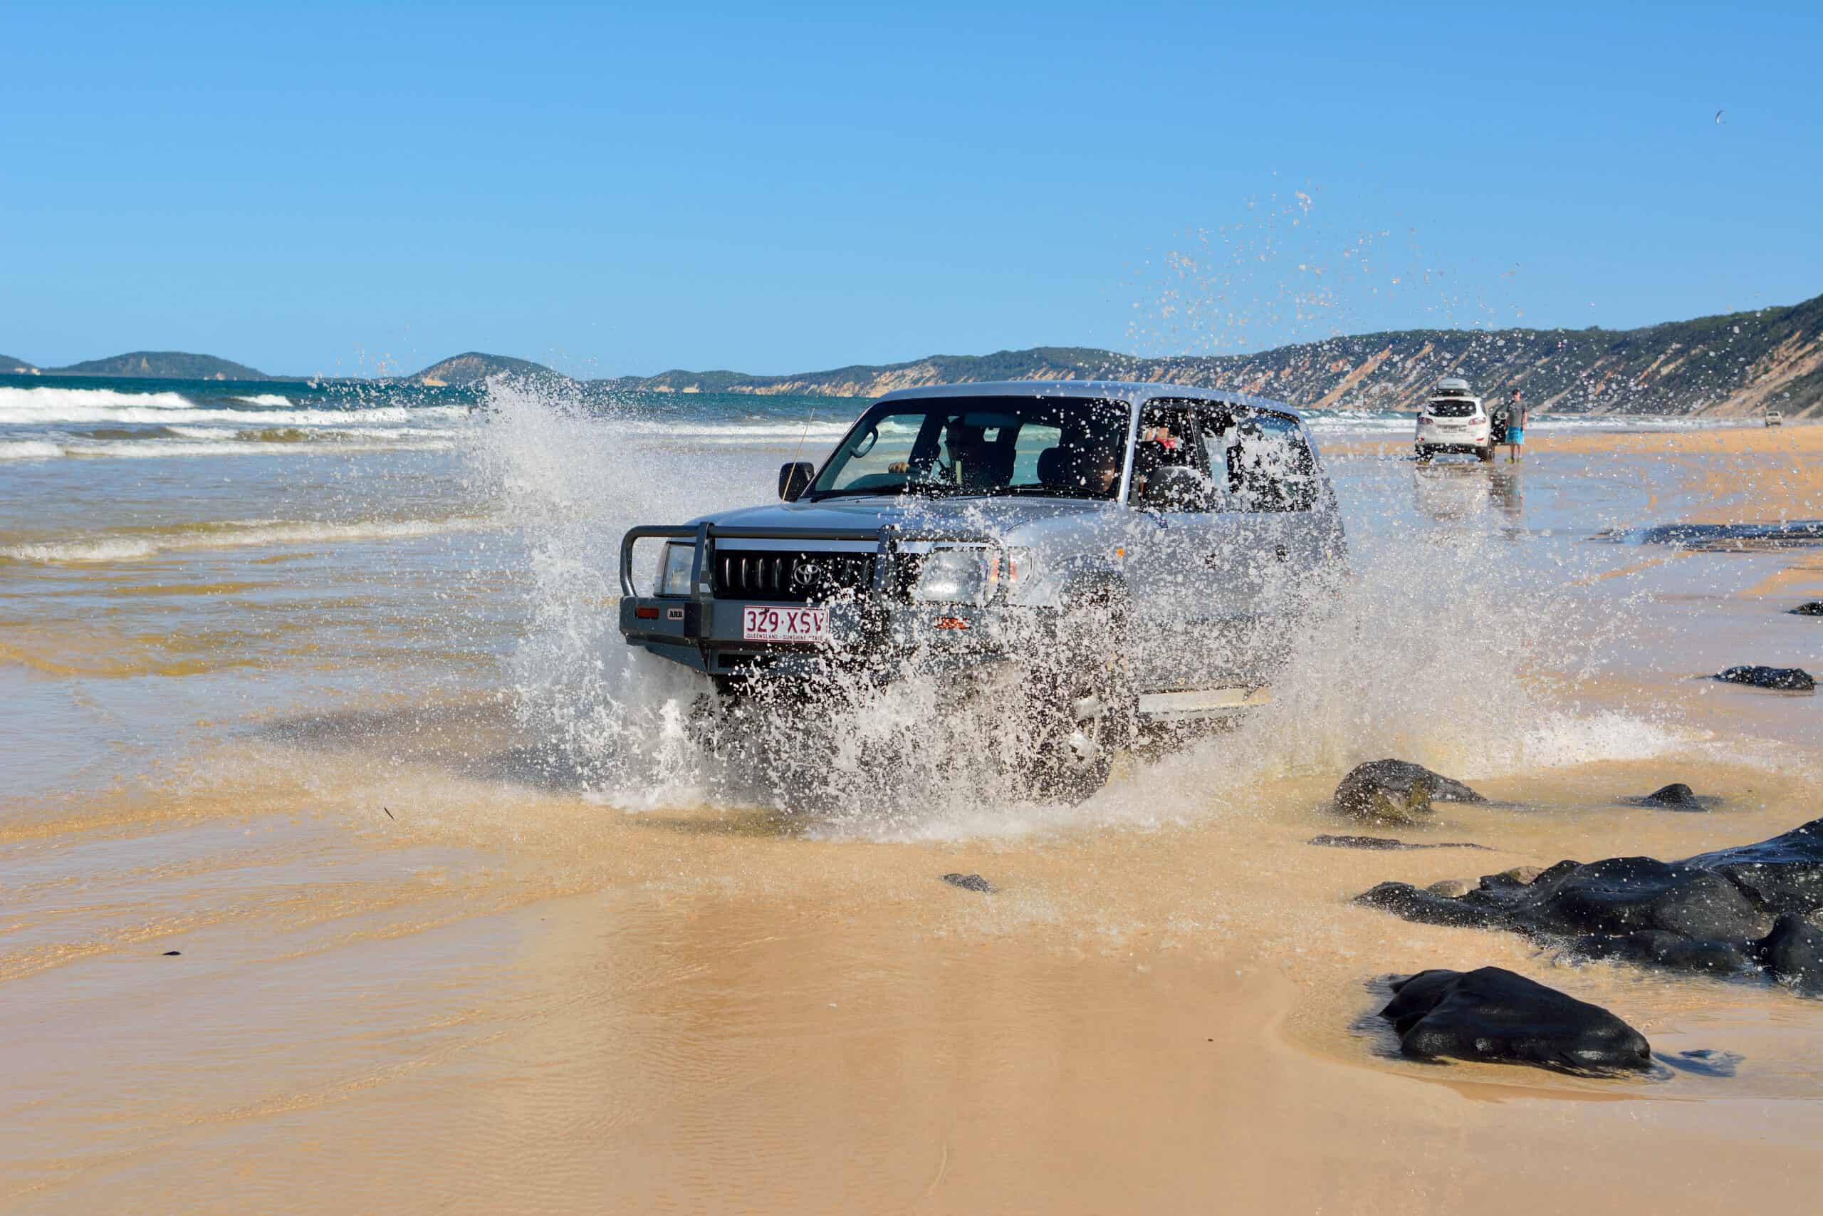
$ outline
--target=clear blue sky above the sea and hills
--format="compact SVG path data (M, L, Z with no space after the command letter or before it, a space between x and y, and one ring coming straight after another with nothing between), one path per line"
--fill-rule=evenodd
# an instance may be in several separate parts
M44 365L793 372L1823 294L1818 4L7 26L0 352Z

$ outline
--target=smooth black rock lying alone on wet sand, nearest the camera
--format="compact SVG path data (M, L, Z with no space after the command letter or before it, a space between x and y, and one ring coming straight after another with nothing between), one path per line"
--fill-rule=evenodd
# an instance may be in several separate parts
M1499 966L1418 972L1393 983L1380 1017L1407 1056L1606 1074L1652 1065L1652 1045L1586 1001Z

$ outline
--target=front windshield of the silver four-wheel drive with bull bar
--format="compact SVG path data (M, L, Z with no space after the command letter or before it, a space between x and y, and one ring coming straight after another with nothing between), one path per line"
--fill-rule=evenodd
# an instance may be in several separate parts
M1116 498L1128 408L1081 397L891 401L860 416L806 498Z

